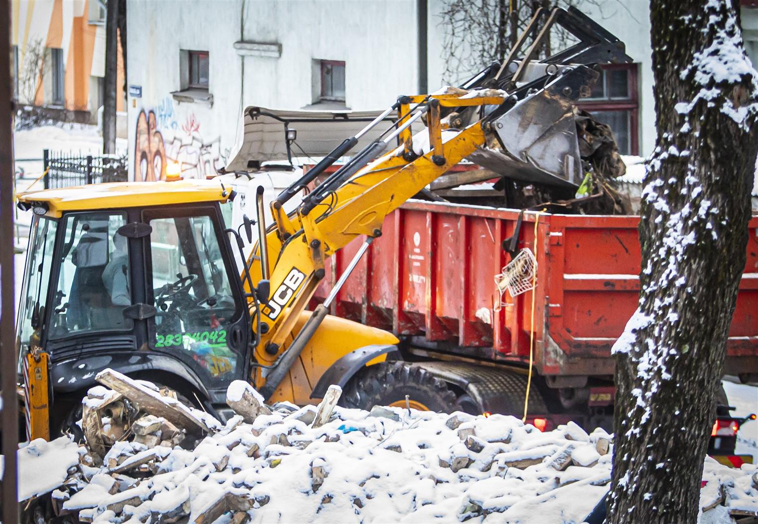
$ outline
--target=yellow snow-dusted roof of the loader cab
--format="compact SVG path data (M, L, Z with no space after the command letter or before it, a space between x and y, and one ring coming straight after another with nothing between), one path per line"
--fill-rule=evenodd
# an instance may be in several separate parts
M231 187L225 188L218 180L111 182L29 191L20 193L18 200L30 207L45 204L45 215L57 218L67 211L226 202L230 190Z

